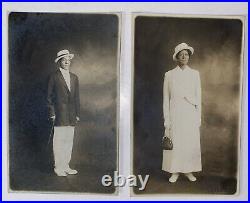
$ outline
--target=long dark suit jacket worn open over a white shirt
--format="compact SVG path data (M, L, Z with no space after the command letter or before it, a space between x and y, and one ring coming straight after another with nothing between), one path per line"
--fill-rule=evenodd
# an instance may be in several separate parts
M70 89L58 69L49 78L47 105L49 117L56 116L55 126L74 126L80 118L78 77L70 73Z

